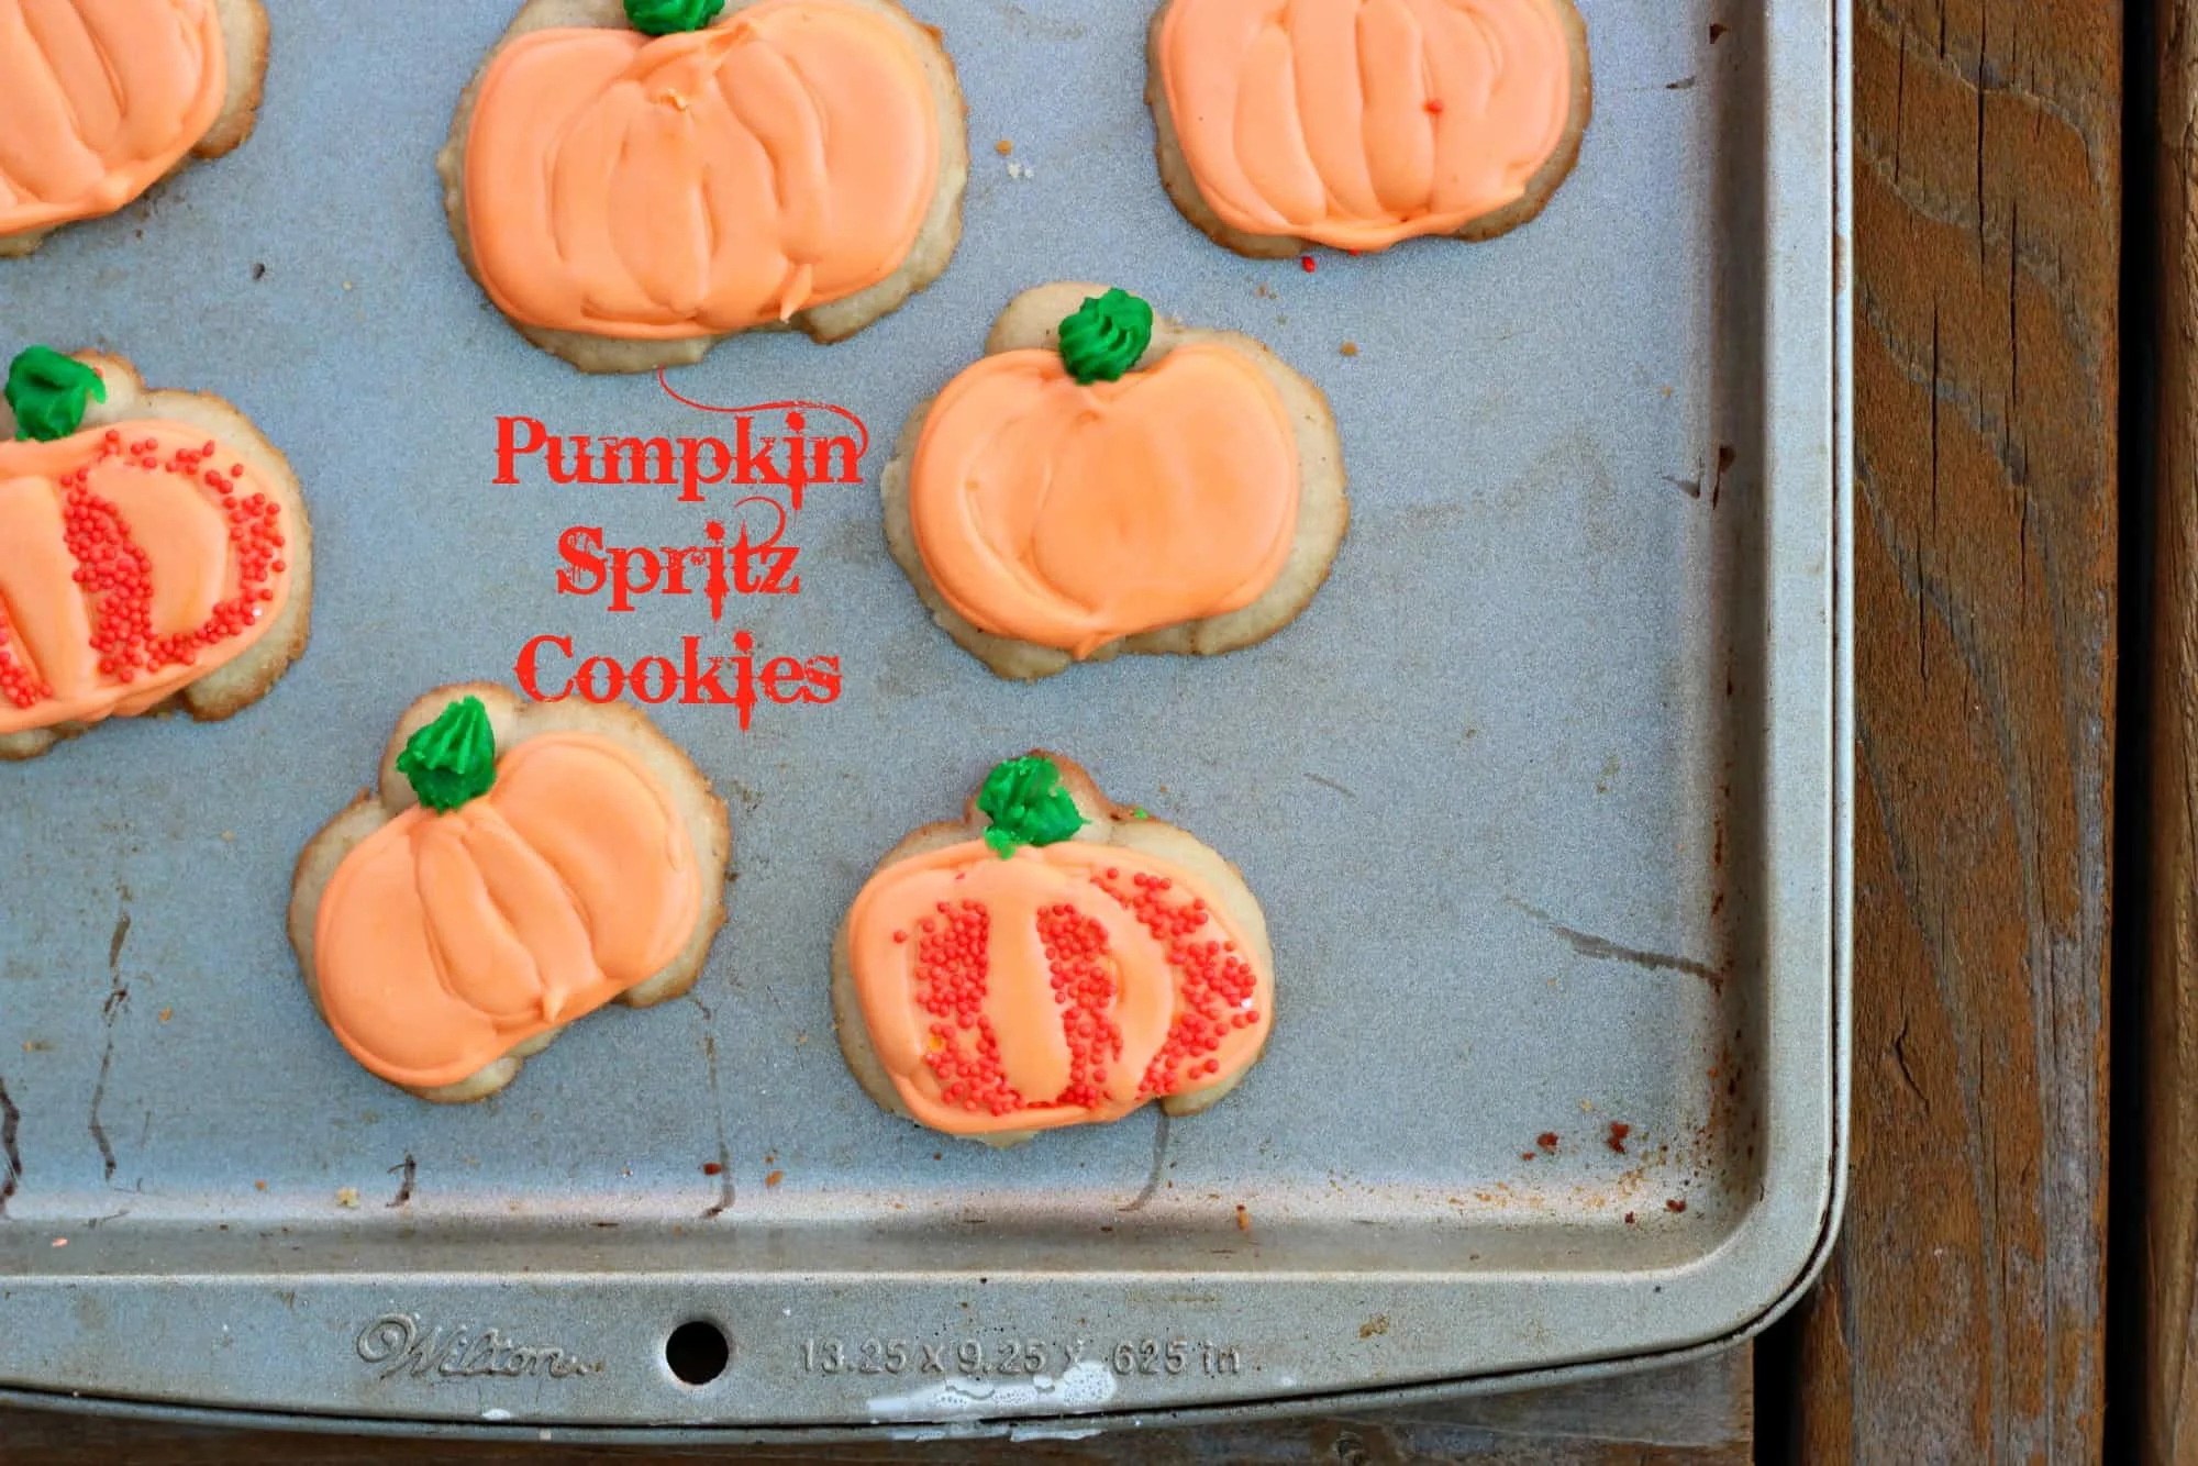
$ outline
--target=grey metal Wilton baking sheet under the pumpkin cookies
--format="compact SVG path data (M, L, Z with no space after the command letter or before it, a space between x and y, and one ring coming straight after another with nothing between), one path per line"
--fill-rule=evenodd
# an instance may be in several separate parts
M244 149L0 270L0 347L229 396L319 541L266 701L0 769L7 1398L1059 1433L1670 1358L1805 1284L1844 1130L1844 4L1583 0L1596 116L1539 222L1308 273L1169 207L1143 0L914 0L969 101L963 244L848 343L673 374L870 429L862 484L787 527L800 593L719 622L563 596L556 543L695 545L721 490L492 481L499 415L721 424L528 347L462 273L431 163L508 0L268 9ZM1273 642L1009 686L928 624L877 473L1046 279L1253 332L1328 391L1352 534ZM736 824L692 998L484 1106L358 1070L284 903L398 710L545 633L635 659L734 631L844 684L745 730L657 710ZM1242 864L1281 1002L1213 1112L996 1154L862 1097L826 945L879 851L1031 745ZM732 1341L706 1387L664 1358L690 1319Z

